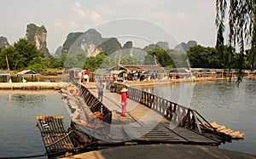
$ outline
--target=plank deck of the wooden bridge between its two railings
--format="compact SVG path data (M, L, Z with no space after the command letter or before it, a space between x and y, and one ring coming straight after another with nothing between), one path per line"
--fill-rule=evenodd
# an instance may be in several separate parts
M96 89L89 84L90 93L97 97ZM108 141L132 142L139 144L184 144L220 145L218 138L210 138L207 133L200 134L189 128L168 121L159 112L132 99L128 99L126 116L120 116L120 94L104 89L102 103L112 111L110 132L101 139ZM106 138L105 138L106 137Z

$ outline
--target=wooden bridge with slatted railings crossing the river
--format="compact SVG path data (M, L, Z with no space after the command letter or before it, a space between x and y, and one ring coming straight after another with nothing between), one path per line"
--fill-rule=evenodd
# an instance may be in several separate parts
M90 84L74 83L79 88L76 94L79 105L67 102L67 108L74 110L89 108L92 115L100 112L99 125L79 124L72 121L68 132L75 152L100 150L120 145L213 145L230 141L230 136L219 133L197 111L186 108L172 101L148 94L137 88L127 88L115 83L114 92L104 89L102 102L97 99L96 87ZM128 89L128 106L126 116L120 116L121 88ZM74 91L75 92L75 91ZM74 96L76 96L74 95ZM72 116L73 117L73 116ZM86 120L89 122L89 120ZM60 122L59 122L60 123ZM212 128L212 130L209 130ZM57 143L53 139L54 144ZM47 143L47 145L54 145ZM52 150L51 150L52 151Z

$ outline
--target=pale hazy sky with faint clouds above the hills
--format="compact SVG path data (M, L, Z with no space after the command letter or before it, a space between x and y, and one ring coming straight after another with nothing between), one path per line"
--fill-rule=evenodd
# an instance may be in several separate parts
M135 47L166 41L173 48L189 40L214 47L216 41L210 0L1 0L0 12L0 37L13 45L26 37L28 24L44 26L51 54L68 33L90 28L102 37L119 37L121 44L137 39Z

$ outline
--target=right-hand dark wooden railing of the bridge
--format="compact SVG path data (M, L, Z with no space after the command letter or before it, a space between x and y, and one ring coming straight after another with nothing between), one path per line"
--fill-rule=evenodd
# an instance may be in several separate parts
M212 127L207 120L197 111L189 109L183 105L178 105L170 100L163 99L155 94L149 94L141 89L130 88L124 84L114 83L114 92L120 94L122 88L127 88L127 96L148 108L159 112L172 122L177 122L182 127L187 127L201 133L202 123L207 123Z

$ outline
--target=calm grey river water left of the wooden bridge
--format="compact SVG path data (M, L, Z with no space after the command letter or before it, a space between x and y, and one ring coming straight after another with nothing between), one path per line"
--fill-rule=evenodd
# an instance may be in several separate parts
M70 123L61 94L55 91L0 90L0 101L0 157L44 154L36 116L63 115L66 129Z

